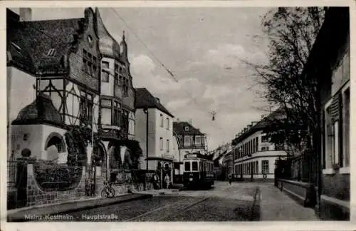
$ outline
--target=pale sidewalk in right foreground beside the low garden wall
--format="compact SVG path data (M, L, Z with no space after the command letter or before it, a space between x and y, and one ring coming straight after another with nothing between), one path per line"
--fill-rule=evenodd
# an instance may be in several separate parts
M298 204L273 184L259 186L261 221L319 220L312 208Z

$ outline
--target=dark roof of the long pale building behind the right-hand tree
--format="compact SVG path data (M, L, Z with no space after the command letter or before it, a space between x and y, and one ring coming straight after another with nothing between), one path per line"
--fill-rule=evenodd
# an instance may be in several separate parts
M246 132L244 132L241 135L239 135L238 137L236 137L234 139L234 141L239 143L241 140L244 140L249 135L256 133L256 131L263 130L264 128L266 128L268 126L268 124L271 123L271 120L278 120L278 119L282 119L283 117L285 117L285 113L284 113L283 109L279 108L276 111L273 111L272 113L270 113L268 116L266 116L262 120L258 121L258 123L256 123L256 125L253 125L252 128L246 130Z

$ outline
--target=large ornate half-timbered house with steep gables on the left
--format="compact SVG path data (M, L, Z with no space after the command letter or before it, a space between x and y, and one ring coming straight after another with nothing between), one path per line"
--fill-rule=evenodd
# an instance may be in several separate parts
M135 133L135 91L125 36L122 36L120 52L117 42L110 40L112 37L98 9L94 12L87 8L84 17L77 19L32 21L31 9L20 9L19 15L7 9L6 15L8 167L11 172L8 183L14 185L12 189L19 191L16 166L11 167L11 161L15 163L19 158L31 158L36 165L41 161L56 163L70 170L80 165L83 171L87 170L85 178L94 179L96 183L109 179L113 183L126 182L118 179L117 173L128 171L130 175L133 168L134 155L126 143ZM105 62L110 63L109 66ZM120 84L115 85L116 65L124 71L119 74L122 76ZM110 72L111 68L114 73ZM106 78L103 72L110 72L114 78ZM107 108L111 113L105 111ZM117 108L120 113L116 113ZM73 147L75 137L70 135L73 128L88 128L92 136L85 140L90 147L79 153ZM110 147L111 141L114 148ZM115 177L110 175L110 169L119 170ZM120 178L122 175L125 174ZM43 178L47 178L46 175ZM41 184L38 185L41 188ZM26 191L26 184L21 187ZM48 190L66 189L50 187ZM95 190L100 192L100 187ZM22 199L25 197L29 199L27 204L33 203L33 196L25 193Z

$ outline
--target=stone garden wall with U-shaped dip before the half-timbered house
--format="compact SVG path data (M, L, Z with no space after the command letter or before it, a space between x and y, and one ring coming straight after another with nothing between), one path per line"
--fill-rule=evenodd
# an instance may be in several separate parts
M78 186L68 191L44 192L38 186L33 171L33 165L27 165L27 203L26 206L51 205L68 200L77 200L85 197L85 167L83 167L82 179Z

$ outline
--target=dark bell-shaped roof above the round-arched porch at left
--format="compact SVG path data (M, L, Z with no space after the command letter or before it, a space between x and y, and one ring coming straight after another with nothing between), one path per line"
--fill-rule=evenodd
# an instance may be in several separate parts
M12 124L50 123L62 126L61 115L53 105L50 96L42 94L36 100L21 109Z

